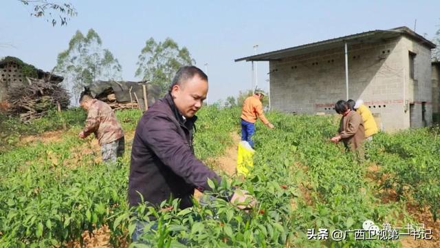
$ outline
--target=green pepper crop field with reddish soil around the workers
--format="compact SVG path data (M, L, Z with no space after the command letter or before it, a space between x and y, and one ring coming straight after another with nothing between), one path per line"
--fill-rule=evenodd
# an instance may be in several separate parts
M217 107L199 112L195 153L219 174L224 172L212 158L236 147L231 134L239 135L239 113ZM159 211L128 207L131 141L140 112L120 111L117 117L126 132L126 154L115 169L100 162L92 138L76 136L85 119L81 110L52 113L26 125L1 117L0 247L90 247L85 231L94 234L102 227L109 246L135 247L130 240L134 220L148 214L158 223L157 232L146 234L153 247L405 247L413 240L410 235L361 240L353 230L362 229L365 220L381 229L383 223L425 223L433 229L433 240L419 240L419 245L439 245L437 127L377 134L366 144L366 161L358 164L343 145L329 142L337 130L333 116L269 112L276 128L257 123L250 175L224 176L214 189L246 189L259 201L255 209L240 211L217 199L207 206L195 200L194 207L182 211L174 200L162 204L170 210ZM50 130L63 131L50 141L21 142L25 135L41 137ZM327 229L328 237L310 235L319 229ZM336 240L334 230L351 232Z

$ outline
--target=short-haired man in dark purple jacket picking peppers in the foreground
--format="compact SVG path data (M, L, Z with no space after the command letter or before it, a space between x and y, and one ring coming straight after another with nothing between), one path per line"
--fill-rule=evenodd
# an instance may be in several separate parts
M180 198L180 208L184 209L192 206L194 189L210 189L208 178L221 180L194 156L192 148L195 113L207 94L205 73L195 66L180 68L168 94L142 116L131 151L130 206L142 203L142 195L145 202L156 207L164 200ZM244 202L249 197L235 193L230 201Z

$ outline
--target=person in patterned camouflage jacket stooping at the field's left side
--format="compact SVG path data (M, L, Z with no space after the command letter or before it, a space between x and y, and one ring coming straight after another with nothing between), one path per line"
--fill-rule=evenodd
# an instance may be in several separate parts
M124 131L111 107L85 94L80 98L80 106L87 111L85 127L78 136L86 138L91 133L98 138L102 162L110 164L124 155Z

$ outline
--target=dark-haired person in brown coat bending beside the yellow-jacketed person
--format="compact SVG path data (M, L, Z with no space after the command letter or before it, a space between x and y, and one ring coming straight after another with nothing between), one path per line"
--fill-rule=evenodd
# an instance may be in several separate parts
M346 101L340 100L335 104L335 110L342 115L338 135L331 138L333 143L342 140L347 149L356 155L358 161L364 159L364 147L362 145L365 139L364 123L362 117L357 112L350 109Z

